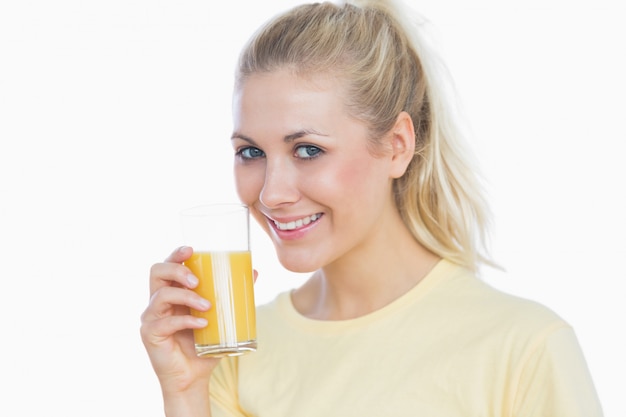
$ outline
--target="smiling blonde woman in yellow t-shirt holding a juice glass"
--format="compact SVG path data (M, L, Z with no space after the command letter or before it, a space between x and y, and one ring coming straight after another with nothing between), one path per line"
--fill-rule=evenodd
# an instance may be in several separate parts
M312 275L258 309L257 352L220 361L193 349L192 249L154 265L142 338L168 416L601 415L567 323L476 278L485 204L405 15L303 5L243 50L237 191Z

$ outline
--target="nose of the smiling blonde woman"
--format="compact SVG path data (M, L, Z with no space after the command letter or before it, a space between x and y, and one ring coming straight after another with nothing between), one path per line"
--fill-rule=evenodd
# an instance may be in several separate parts
M267 161L265 182L259 201L267 208L279 208L300 199L297 173L288 162Z

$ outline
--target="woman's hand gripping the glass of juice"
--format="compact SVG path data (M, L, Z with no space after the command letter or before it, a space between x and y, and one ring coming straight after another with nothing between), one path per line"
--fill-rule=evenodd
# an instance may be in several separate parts
M209 302L194 291L198 280L182 262L193 250L181 247L150 270L150 303L141 315L141 339L164 395L206 387L216 358L196 356L193 330L207 325L189 308L206 311Z

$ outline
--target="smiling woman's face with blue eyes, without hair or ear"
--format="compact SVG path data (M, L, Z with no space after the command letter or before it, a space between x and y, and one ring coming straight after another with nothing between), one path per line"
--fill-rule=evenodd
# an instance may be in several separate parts
M233 105L237 192L281 263L309 272L369 256L395 210L390 157L371 154L367 128L346 112L339 82L254 74Z

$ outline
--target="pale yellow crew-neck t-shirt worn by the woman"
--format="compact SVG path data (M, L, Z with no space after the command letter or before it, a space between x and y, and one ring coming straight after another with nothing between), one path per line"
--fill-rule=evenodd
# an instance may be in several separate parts
M602 415L567 323L446 260L363 317L311 320L283 293L257 320L258 351L212 376L213 416Z

